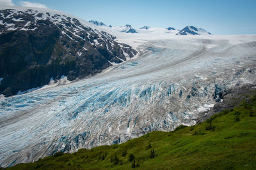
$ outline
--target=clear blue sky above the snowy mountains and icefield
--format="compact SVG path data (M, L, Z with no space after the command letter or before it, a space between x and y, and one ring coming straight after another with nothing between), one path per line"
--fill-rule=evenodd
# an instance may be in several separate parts
M256 34L256 0L0 0L15 5L40 3L85 20L135 28L202 27L212 34Z

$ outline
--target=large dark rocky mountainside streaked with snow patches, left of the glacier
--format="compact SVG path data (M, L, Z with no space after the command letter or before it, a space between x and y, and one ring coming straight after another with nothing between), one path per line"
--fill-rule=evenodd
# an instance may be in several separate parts
M0 11L0 94L40 87L67 76L83 78L136 55L115 37L65 15ZM127 58L128 57L128 58Z

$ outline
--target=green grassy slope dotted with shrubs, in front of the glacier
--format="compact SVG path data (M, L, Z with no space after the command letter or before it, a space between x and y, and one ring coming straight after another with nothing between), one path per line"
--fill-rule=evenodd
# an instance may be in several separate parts
M147 149L148 143L152 148ZM150 159L152 149L156 157ZM256 169L256 96L194 127L154 131L120 145L82 149L10 169L131 169L130 153L140 165L136 169ZM116 165L111 162L115 154L121 160ZM102 155L104 160L99 159Z

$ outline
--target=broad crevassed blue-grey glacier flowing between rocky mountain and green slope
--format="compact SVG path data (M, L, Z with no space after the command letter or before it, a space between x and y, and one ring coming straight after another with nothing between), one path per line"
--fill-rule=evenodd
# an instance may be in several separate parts
M0 101L0 166L195 124L221 90L255 83L255 41L151 41L92 78ZM207 110L207 108L205 108Z

